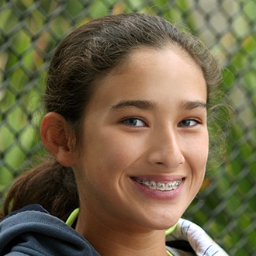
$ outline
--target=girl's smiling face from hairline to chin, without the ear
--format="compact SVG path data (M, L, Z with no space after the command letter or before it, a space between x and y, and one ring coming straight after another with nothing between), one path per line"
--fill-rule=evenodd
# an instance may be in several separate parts
M206 81L177 49L140 49L99 82L73 167L81 214L120 229L173 226L202 185ZM115 226L113 226L115 225Z

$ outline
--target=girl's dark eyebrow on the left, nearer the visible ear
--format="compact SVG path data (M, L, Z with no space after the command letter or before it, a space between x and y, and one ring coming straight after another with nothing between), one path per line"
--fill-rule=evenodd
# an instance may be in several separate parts
M111 109L118 110L129 107L136 107L143 110L151 110L155 108L155 104L147 100L123 100L118 102L116 105L111 106Z

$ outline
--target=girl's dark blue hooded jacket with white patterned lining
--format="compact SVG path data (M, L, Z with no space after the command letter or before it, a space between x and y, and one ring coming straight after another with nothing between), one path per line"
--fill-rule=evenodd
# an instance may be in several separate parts
M179 220L168 237L167 248L174 256L227 255L200 227L188 220ZM180 246L182 250L175 248ZM193 249L198 251L197 254ZM39 205L31 205L9 214L0 222L0 255L99 256L99 253L62 220L51 216Z

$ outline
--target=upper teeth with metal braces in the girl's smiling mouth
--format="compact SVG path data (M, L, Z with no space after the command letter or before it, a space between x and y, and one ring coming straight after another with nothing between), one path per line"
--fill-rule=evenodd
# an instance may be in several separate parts
M170 191L170 190L175 190L178 188L178 185L182 183L182 178L174 181L174 182L154 182L154 181L146 181L142 180L136 177L132 177L134 182L138 182L142 185L145 185L149 187L150 189L157 189L160 191Z

